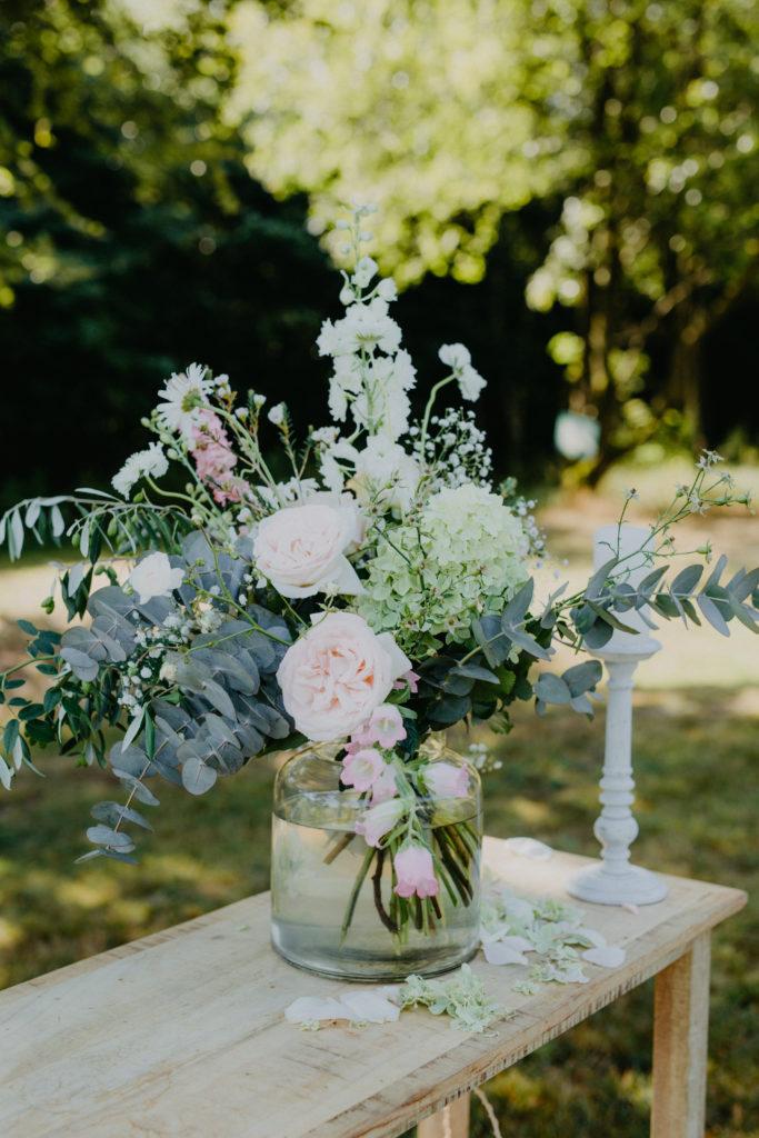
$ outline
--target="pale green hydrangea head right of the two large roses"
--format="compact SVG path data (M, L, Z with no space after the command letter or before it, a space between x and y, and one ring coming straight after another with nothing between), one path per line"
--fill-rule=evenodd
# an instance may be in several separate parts
M527 549L501 495L472 483L442 489L380 538L358 611L402 645L464 642L472 620L500 612L527 579Z

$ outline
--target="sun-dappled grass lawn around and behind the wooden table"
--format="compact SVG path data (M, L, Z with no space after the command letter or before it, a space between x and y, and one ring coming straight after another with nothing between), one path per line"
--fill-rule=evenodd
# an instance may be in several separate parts
M543 523L552 546L570 559L570 577L587 569L595 525L614 517L614 503L597 496L546 508ZM718 531L716 545L731 562L759 563L756 518L695 519L692 528L694 544L700 529ZM26 570L0 572L0 611L8 617L34 616L27 597L43 592L27 593L25 579ZM662 651L638 669L635 694L634 860L750 893L749 907L713 935L707 1119L709 1138L749 1138L759 1135L758 642L742 627L726 641L710 629L666 626L660 640ZM17 648L7 619L2 666ZM489 833L597 852L599 707L588 723L559 708L538 718L522 706L509 736L475 736L493 742L503 761L485 781ZM201 799L164 785L139 868L72 864L86 847L90 805L117 785L52 754L42 761L44 781L24 774L10 794L0 792L0 986L266 888L273 761L251 764ZM504 1138L647 1135L652 995L652 984L643 986L487 1083ZM473 1099L471 1136L490 1133Z

